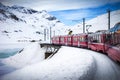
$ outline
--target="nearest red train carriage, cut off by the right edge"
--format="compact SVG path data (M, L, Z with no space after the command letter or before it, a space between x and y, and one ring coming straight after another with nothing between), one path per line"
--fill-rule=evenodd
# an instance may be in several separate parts
M114 61L120 62L120 33L106 35L105 51Z

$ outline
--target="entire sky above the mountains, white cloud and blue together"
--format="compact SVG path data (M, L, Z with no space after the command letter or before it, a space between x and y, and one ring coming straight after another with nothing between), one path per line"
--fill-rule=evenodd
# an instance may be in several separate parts
M24 6L35 10L47 10L66 25L75 25L82 18L89 20L98 15L120 9L120 0L0 0L13 6Z

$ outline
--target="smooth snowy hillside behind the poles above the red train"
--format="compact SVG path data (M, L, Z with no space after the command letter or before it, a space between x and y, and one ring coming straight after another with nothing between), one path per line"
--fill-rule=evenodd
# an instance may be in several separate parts
M112 28L116 23L120 22L120 10L112 11L110 15L110 27ZM89 32L96 32L98 30L108 30L108 14L100 15L85 22L85 25L91 25ZM71 28L74 34L83 32L83 24L77 24ZM85 27L86 30L86 27ZM85 31L87 32L87 31Z

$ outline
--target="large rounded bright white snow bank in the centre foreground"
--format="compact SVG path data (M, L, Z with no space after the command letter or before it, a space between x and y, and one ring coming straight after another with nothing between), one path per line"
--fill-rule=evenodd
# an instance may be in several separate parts
M86 50L62 47L51 59L4 75L2 80L92 80L94 58Z

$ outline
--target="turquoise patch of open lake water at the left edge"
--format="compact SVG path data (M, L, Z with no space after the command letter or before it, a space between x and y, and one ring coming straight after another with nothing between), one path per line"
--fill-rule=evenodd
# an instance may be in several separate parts
M9 56L13 56L20 50L21 49L18 49L18 48L16 48L16 49L3 49L3 50L0 50L0 59L8 58Z

